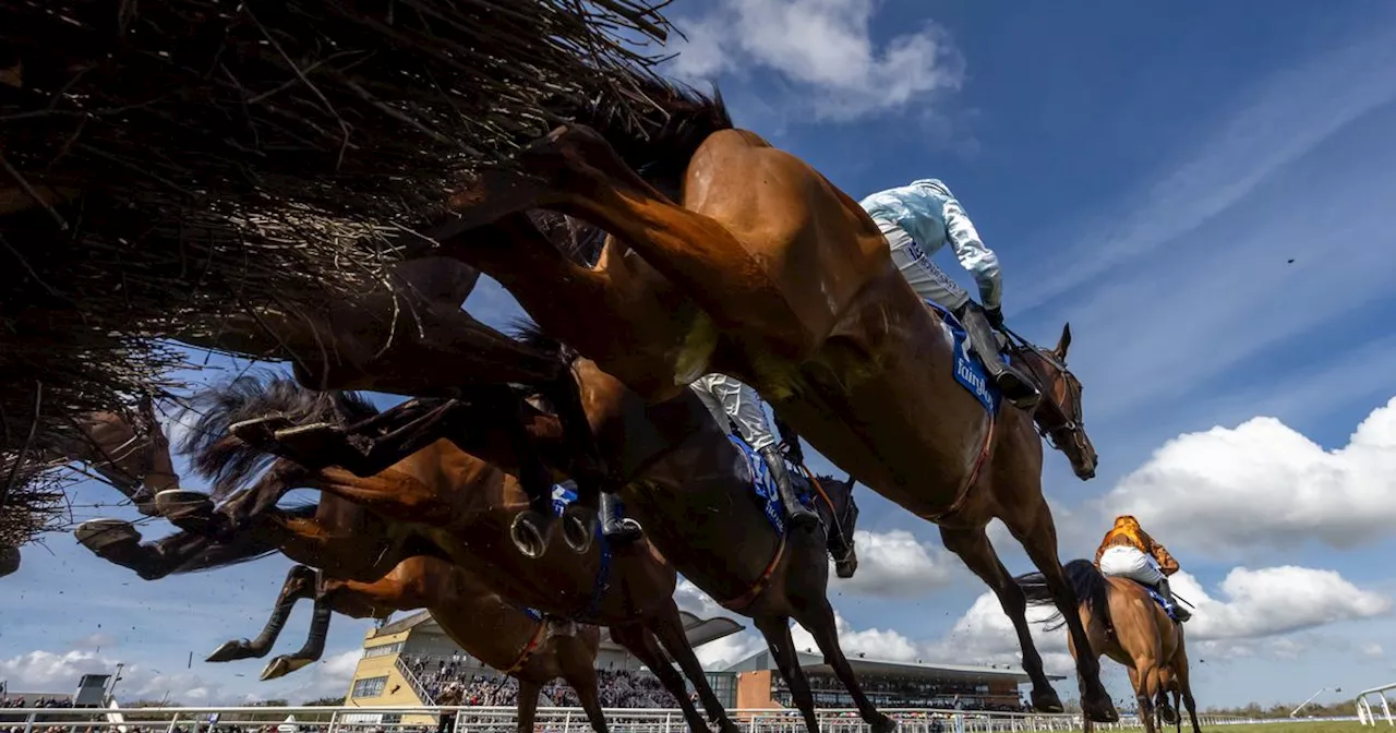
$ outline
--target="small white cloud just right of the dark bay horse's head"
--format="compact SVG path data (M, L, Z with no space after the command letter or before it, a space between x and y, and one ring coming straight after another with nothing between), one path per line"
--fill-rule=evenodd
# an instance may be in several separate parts
M853 533L859 570L849 579L831 572L829 588L868 596L913 598L948 585L953 577L949 553L923 545L905 529Z

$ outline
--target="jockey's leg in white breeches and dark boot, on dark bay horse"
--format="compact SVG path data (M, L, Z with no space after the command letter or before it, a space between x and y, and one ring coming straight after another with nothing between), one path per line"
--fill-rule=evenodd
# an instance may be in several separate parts
M771 477L776 482L776 490L780 493L780 503L785 504L786 519L792 525L804 528L819 524L819 515L794 496L790 473L785 469L785 457L780 455L780 447L776 444L776 436L771 431L771 423L766 422L766 410L761 409L761 398L757 397L757 391L726 374L704 374L688 388L702 399L708 412L723 427L723 433L730 430L730 424L736 424L741 440L745 440L747 445L751 445L765 459L766 466L771 468Z

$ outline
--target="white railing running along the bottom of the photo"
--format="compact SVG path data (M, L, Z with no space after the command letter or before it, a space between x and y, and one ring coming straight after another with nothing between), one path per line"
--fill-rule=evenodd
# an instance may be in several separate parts
M70 733L219 733L232 727L279 725L281 733L410 733L436 730L437 715L455 712L455 733L514 732L514 708L476 706L300 706L300 708L0 708L0 729L22 727L24 733L66 729ZM1027 733L1081 730L1079 715L1032 715L944 709L885 709L899 723L899 733ZM794 711L727 711L744 733L801 733L804 720ZM295 722L286 722L288 716ZM825 733L864 733L867 725L854 711L821 709L819 729ZM214 718L216 716L216 718ZM430 722L424 722L429 716ZM403 720L403 718L412 718ZM1203 727L1228 723L1255 723L1244 718L1199 716ZM606 711L613 733L681 733L688 726L677 709ZM1141 727L1134 716L1097 727L1115 730ZM591 730L586 715L578 708L539 708L535 730L544 733L585 733Z

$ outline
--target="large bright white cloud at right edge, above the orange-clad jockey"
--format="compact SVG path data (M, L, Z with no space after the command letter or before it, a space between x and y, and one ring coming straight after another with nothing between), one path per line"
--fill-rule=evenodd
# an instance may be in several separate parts
M1121 479L1103 510L1134 514L1167 545L1228 556L1369 543L1396 526L1393 494L1396 398L1335 451L1273 417L1180 436Z

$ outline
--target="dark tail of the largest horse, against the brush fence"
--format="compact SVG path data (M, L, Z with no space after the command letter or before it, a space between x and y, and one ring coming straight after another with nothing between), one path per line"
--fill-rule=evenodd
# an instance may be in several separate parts
M708 135L733 127L732 114L716 87L709 96L651 75L630 81L638 94L607 89L582 109L557 112L600 133L631 169L678 200L688 162Z

